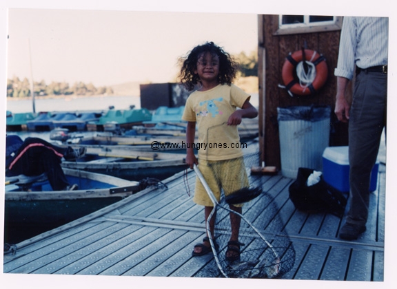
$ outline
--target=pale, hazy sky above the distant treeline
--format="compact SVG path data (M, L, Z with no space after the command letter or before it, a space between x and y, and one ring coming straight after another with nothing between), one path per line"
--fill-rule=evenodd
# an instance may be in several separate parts
M214 41L256 50L256 14L11 9L8 78L95 86L173 82L178 58Z

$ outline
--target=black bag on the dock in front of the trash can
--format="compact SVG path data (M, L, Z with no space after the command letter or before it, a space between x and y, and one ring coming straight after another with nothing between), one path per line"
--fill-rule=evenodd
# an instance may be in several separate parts
M299 168L296 180L289 186L289 199L300 211L309 213L332 213L342 217L347 199L340 191L332 188L320 176L320 181L307 186L307 178L313 169Z

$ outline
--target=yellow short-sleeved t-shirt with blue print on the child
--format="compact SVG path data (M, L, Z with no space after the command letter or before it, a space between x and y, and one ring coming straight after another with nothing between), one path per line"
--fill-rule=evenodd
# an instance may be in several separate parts
M190 94L182 119L197 122L199 158L230 160L243 156L237 126L227 125L227 119L247 99L250 95L236 85L218 85Z

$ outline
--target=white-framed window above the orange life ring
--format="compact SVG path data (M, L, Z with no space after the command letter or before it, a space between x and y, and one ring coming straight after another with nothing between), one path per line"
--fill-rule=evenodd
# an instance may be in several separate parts
M342 28L342 17L319 15L278 15L274 35L327 32Z

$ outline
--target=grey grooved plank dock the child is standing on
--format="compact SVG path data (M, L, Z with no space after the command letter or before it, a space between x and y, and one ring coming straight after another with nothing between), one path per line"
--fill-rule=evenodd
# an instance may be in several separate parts
M214 262L192 257L205 234L203 208L187 195L194 172L165 180L168 189L149 188L116 204L17 244L3 256L5 274L196 277ZM288 197L292 179L251 176L272 195L296 251L292 270L281 279L383 281L385 165L371 193L367 231L354 242L338 239L342 220L325 213L296 211Z

